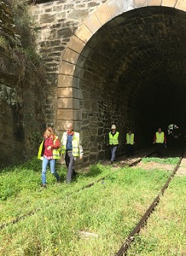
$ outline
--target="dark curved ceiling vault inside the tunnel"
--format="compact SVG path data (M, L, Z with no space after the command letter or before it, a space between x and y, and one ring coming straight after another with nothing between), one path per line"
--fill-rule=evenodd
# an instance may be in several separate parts
M158 125L160 113L160 122L181 123L186 109L185 35L186 13L175 8L125 12L87 43L83 68L112 82L145 125Z

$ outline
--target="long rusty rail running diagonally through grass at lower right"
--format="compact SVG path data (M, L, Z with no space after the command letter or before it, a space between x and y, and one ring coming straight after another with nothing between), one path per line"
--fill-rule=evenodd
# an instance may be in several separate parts
M165 189L168 188L168 185L171 182L171 179L175 176L175 173L178 170L182 159L183 159L183 156L181 156L181 158L179 159L178 164L175 166L174 170L171 172L171 175L169 176L168 180L165 182L165 185L162 187L161 191L158 193L154 201L152 201L152 204L148 207L147 211L145 211L145 214L143 214L139 223L136 224L135 228L129 234L128 238L126 238L126 241L122 244L121 248L116 253L116 256L122 256L127 254L130 244L132 244L132 241L135 240L135 234L139 234L139 231L141 230L142 227L145 226L148 217L150 216L150 214L152 214L152 211L155 211L155 207L158 205L161 196L165 192Z

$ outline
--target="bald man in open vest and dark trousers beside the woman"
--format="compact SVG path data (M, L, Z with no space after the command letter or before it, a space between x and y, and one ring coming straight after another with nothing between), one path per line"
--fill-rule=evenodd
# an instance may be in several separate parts
M67 166L66 182L70 183L76 175L74 171L74 162L76 158L83 158L83 148L80 141L80 133L73 131L73 124L67 124L67 131L64 132L61 138L62 151L65 155L65 162Z

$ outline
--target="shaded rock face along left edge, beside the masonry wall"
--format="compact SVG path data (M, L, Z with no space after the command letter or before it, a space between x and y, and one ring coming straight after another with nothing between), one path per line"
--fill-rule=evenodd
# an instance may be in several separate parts
M45 128L45 81L40 65L15 45L11 6L1 2L0 8L0 167L5 167L38 152Z

